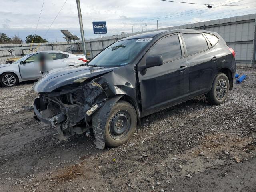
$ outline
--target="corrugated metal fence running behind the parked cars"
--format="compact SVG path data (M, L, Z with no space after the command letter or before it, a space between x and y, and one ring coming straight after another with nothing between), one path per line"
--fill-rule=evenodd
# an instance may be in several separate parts
M256 14L249 14L244 16L236 16L218 20L210 20L200 23L200 28L203 30L217 32L224 38L228 46L233 48L236 52L236 62L238 65L243 66L253 66L253 54L254 51L254 34L255 34L255 16ZM170 30L170 29L199 29L199 23L186 24L168 28L161 28L158 30ZM155 30L150 30L155 31ZM149 32L149 31L148 31ZM134 34L139 34L142 32L137 32ZM104 48L109 46L110 44L120 40L122 38L134 35L134 34L124 34L120 36L108 36L97 39L90 39L86 41L86 51L87 57L93 58ZM38 44L33 44L33 46L37 46ZM31 44L12 44L5 45L1 47L30 47ZM82 53L82 44L78 42L73 44L75 53ZM67 51L68 43L67 42L56 42L56 43L42 43L40 44L38 51L43 50L60 50ZM24 54L28 54L31 52L30 50L17 50L16 56L22 56ZM12 56L10 52L0 51L0 63L5 63L7 58ZM255 66L255 65L254 65Z

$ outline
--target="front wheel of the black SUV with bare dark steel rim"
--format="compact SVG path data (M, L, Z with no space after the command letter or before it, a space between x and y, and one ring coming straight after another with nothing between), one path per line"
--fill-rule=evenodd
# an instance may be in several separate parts
M126 143L134 134L136 126L136 111L126 101L118 101L113 106L102 106L92 116L94 133L98 134L99 130L104 131L104 141L108 147L117 147ZM97 138L96 135L95 137Z

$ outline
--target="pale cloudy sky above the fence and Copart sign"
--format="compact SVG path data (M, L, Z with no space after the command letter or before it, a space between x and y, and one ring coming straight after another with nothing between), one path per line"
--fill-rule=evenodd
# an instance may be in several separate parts
M0 33L9 37L36 34L49 42L65 41L60 30L67 29L80 37L76 0L0 0ZM179 0L181 1L181 0ZM203 4L255 5L255 0L182 0ZM44 2L44 6L42 4ZM86 39L98 38L93 34L93 21L106 21L108 34L132 33L143 30L178 26L192 22L253 14L256 7L212 6L163 2L158 0L80 0ZM63 6L64 5L64 6ZM62 8L63 6L63 8ZM62 10L60 11L60 9ZM38 18L40 11L40 20ZM50 27L58 12L60 14ZM36 29L38 22L38 27ZM49 29L50 27L50 29ZM48 30L49 29L49 30Z

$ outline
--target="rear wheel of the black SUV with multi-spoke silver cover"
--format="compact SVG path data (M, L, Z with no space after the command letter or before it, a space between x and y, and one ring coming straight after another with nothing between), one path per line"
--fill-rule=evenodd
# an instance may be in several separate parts
M212 88L208 94L206 94L206 100L211 104L220 105L228 97L229 92L229 80L224 73L218 73L213 81Z

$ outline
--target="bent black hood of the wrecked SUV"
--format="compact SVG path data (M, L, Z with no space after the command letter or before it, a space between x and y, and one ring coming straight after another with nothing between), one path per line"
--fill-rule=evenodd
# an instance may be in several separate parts
M115 68L99 68L88 66L72 66L53 69L45 74L33 87L32 90L39 93L52 92L56 88L72 84L79 78L93 78L106 74Z

